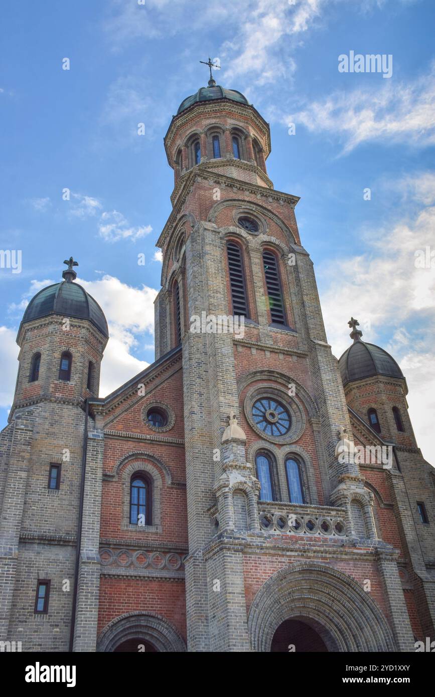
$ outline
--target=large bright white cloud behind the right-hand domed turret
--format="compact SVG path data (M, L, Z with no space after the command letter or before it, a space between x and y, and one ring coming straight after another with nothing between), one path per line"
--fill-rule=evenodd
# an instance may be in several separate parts
M422 173L397 186L406 190L406 197L413 197L419 181L424 186L415 215L406 220L397 211L398 219L389 229L366 233L365 254L337 259L318 275L327 286L321 293L321 305L337 358L350 344L346 322L351 316L360 321L367 342L378 343L383 332L390 330L391 339L381 341L381 346L402 367L418 445L435 463L435 352L427 348L435 345L435 265L415 267L416 250L425 250L427 245L434 249L435 206L430 204L435 202L435 178Z

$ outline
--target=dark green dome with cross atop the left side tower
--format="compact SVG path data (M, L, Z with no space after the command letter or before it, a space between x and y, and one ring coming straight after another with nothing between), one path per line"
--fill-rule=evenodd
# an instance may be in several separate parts
M70 266L63 272L65 279L61 283L43 288L36 293L23 315L22 324L31 322L40 317L47 317L50 314L60 314L62 317L77 317L77 319L88 319L105 337L109 336L107 321L98 302L89 293L86 293L82 286L74 283L76 273L73 270L77 265L71 257L66 261Z

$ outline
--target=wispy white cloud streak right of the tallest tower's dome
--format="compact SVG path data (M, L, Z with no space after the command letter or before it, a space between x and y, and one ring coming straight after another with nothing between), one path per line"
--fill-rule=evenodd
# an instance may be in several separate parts
M435 144L435 67L413 82L382 80L376 88L335 92L283 119L327 132L349 153L360 143Z

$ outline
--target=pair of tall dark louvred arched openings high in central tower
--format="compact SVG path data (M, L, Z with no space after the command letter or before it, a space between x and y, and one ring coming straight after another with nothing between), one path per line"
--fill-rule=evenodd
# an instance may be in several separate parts
M247 302L245 265L243 262L243 252L238 243L233 241L227 243L227 259L233 314L249 318L250 312ZM270 321L273 325L285 326L287 325L287 317L284 309L284 296L282 293L279 262L275 252L271 250L263 251L263 268L268 294Z

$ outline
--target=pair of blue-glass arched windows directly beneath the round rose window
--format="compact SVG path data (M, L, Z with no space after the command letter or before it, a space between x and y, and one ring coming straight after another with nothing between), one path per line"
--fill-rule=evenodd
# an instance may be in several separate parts
M277 482L274 476L275 460L268 452L259 452L255 457L255 467L257 479L261 484L260 500L276 501L279 500ZM287 481L287 493L291 503L305 503L303 490L303 480L300 471L300 463L293 456L289 455L284 461L284 468Z

